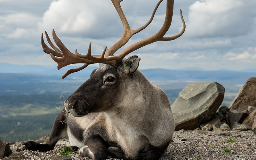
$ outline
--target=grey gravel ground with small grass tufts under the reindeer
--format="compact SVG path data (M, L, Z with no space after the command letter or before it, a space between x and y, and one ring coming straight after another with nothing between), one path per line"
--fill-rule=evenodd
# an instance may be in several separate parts
M256 160L256 136L252 130L229 131L232 135L225 136L213 131L177 131L174 132L173 142L167 148L161 160ZM224 142L227 138L236 142ZM22 151L26 159L44 160L60 156L58 151L64 144L57 144L54 150L48 152ZM231 149L224 152L223 148ZM50 158L49 158L50 157ZM64 158L64 157L63 157ZM64 158L65 159L65 158ZM71 154L67 159L90 160ZM115 160L113 158L109 160Z

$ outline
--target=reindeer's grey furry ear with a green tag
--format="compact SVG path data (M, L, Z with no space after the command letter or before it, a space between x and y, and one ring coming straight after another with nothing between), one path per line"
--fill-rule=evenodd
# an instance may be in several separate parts
M135 72L140 63L140 58L138 56L131 56L127 60L124 61L123 67L124 67L124 72L126 74L131 74Z

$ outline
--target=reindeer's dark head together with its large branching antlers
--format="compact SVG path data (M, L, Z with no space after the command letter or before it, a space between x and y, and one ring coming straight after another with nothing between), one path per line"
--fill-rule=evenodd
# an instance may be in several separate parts
M160 0L156 4L150 20L144 26L135 30L132 30L130 28L124 16L124 12L120 4L123 0L111 1L123 22L124 32L123 36L118 42L116 42L108 50L107 47L104 49L102 55L91 55L91 43L89 45L89 49L86 55L79 54L77 51L75 51L75 54L71 53L65 47L65 45L62 44L58 36L55 34L54 30L52 31L53 40L55 44L57 44L57 46L60 48L60 50L52 44L48 34L45 32L48 43L54 49L52 50L44 43L43 34L41 36L43 51L47 54L50 54L52 59L58 63L58 69L70 64L85 63L80 68L68 70L62 76L62 78L65 78L73 72L84 69L89 64L101 63L100 67L96 71L92 72L90 79L82 84L76 90L76 92L71 94L65 101L66 110L72 113L74 116L83 116L89 112L103 111L110 108L115 100L118 101L117 97L119 95L116 95L115 93L120 93L120 90L123 88L121 86L125 85L124 83L127 83L127 77L133 77L132 75L134 75L134 72L139 66L140 59L138 58L138 56L129 57L127 60L124 60L124 57L127 56L129 53L156 41L174 40L180 37L184 33L186 28L185 22L182 17L182 12L180 10L180 16L183 23L183 28L181 32L175 36L164 37L164 35L171 26L174 3L173 0L167 0L165 20L160 30L156 34L128 46L118 55L114 56L113 54L122 46L124 46L124 44L126 44L134 34L148 27L148 25L152 22L154 18L158 6L163 0Z

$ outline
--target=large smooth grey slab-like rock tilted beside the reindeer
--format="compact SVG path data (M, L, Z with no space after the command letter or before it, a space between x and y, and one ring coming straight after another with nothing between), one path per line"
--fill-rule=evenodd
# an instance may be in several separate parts
M217 82L188 84L171 106L176 131L194 130L206 123L220 107L224 92Z

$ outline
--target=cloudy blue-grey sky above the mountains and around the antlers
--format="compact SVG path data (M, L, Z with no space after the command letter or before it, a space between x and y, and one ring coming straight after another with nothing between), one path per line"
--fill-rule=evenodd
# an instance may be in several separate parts
M157 2L121 2L131 29L149 20ZM255 8L254 0L175 0L172 25L165 36L180 33L180 9L185 33L173 41L144 46L127 57L138 55L140 69L256 70ZM115 55L154 35L163 25L165 10L166 0L152 23ZM92 54L100 55L123 34L122 22L110 0L0 0L0 63L57 68L40 43L44 30L52 38L52 29L71 52L77 49L80 54L86 54L92 42Z

